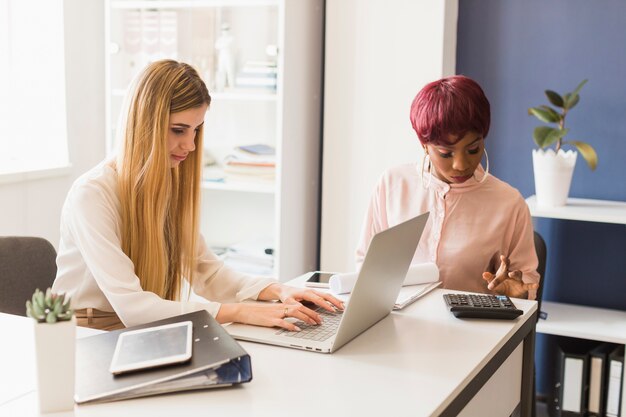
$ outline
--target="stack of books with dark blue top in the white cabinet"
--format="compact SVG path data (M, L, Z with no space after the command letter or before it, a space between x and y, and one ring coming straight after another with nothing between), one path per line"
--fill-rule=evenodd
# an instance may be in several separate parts
M227 180L273 181L276 155L273 147L264 144L238 146L224 160Z

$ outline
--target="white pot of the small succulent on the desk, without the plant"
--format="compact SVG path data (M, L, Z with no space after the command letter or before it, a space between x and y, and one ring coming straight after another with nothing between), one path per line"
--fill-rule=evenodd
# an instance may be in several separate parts
M39 411L74 409L76 318L53 324L35 323Z

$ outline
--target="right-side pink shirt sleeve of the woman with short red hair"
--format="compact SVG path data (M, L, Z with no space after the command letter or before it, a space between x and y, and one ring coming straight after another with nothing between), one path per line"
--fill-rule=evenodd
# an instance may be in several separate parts
M535 250L532 218L523 199L518 204L518 212L515 216L509 260L511 262L509 269L522 271L522 280L525 283L539 283L540 277L537 272L539 261ZM537 290L529 290L528 299L534 300L536 298Z

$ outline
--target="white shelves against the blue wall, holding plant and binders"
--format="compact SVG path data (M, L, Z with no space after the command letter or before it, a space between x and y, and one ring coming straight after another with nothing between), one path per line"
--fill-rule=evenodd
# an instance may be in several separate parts
M526 199L533 217L626 225L626 202L569 198L563 207L543 207L533 195ZM543 301L548 314L537 322L537 332L626 345L626 311ZM622 410L626 415L626 383Z

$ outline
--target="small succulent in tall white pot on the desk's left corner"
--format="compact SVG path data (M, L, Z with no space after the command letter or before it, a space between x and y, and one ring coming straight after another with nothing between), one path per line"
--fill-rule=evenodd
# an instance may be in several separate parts
M37 289L26 302L26 315L35 320L39 410L73 410L76 318L70 298Z

